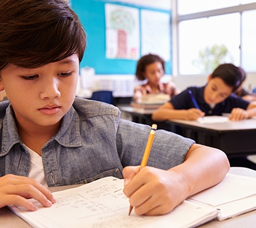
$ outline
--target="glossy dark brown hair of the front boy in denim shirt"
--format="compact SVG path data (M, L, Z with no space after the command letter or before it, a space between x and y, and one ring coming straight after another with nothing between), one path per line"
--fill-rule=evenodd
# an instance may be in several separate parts
M0 70L57 62L76 53L81 62L86 35L63 0L0 1Z

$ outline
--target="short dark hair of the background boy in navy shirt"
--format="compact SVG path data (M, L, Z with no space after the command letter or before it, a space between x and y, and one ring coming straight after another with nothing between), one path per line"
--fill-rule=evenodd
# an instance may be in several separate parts
M211 78L219 77L234 92L242 83L243 75L240 67L233 64L221 64L212 73Z

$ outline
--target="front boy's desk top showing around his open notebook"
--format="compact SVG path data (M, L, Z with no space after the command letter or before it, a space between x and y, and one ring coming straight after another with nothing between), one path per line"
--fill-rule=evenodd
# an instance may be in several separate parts
M50 188L52 192L54 191L61 191L64 189L69 189L71 187L77 187L78 185L72 185L72 186L62 186L62 187L52 187ZM204 225L201 225L200 228L251 228L256 227L256 211L252 211L246 214L242 214L240 216L237 216L232 219L226 219L224 221L209 221L208 223L205 223ZM9 208L0 208L0 218L1 218L1 227L4 228L12 228L12 227L19 227L19 228L31 228L26 221L19 218L15 214L9 210Z

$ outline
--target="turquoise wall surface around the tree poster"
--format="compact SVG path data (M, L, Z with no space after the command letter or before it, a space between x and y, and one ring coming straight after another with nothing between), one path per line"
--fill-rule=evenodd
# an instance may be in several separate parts
M148 6L146 6L148 2ZM139 56L137 59L125 59L125 58L108 58L106 57L106 20L105 20L105 5L106 3L114 4L120 7L129 7L130 9L138 10L139 12L139 24L141 24L142 10L149 10L148 12L163 12L169 14L169 24L171 27L171 11L169 9L163 9L163 3L167 3L167 0L159 1L160 6L152 0L140 0L140 1L113 1L113 0L72 0L72 9L79 16L81 23L85 28L87 34L87 48L85 50L84 58L81 62L81 67L89 66L95 69L96 75L133 75L135 73L137 60L142 55L142 35L139 36L140 47ZM169 3L170 5L170 3ZM158 7L156 7L158 6ZM168 5L167 5L168 6ZM137 24L137 23L135 23ZM139 27L139 26L138 26ZM155 29L156 30L156 29ZM164 29L166 31L166 29ZM153 31L153 30L152 30ZM165 34L165 31L163 33ZM141 28L139 28L141 33ZM171 35L169 35L171 39ZM148 42L150 40L147 40ZM152 41L155 43L155 41ZM145 43L145 42L144 42ZM161 43L158 44L159 50ZM171 47L171 45L170 45ZM162 47L166 51L165 47ZM161 50L161 49L160 49ZM169 50L171 56L171 50ZM171 73L171 60L166 62L166 71Z

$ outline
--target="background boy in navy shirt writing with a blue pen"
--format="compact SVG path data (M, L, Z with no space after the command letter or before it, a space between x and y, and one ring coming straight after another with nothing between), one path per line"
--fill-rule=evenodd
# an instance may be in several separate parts
M233 64L221 64L208 77L208 83L202 87L189 87L181 94L161 105L152 114L154 121L184 119L195 121L205 115L230 113L231 121L240 121L256 115L256 105L232 94L242 83L242 71ZM195 107L190 96L196 99Z

